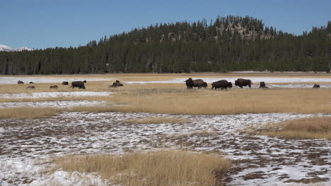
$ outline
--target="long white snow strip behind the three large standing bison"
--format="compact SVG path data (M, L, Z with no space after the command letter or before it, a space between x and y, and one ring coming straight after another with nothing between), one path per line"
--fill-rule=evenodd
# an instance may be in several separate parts
M218 77L218 78L204 78L204 77L194 77L193 79L202 79L204 82L211 83L219 80L228 80L229 82L234 82L238 78L252 80L253 83L265 82L267 85L272 83L291 83L291 82L331 82L330 78L305 78L305 77ZM163 80L163 81L131 81L125 82L128 84L147 84L147 83L184 83L187 78L175 78L173 80Z

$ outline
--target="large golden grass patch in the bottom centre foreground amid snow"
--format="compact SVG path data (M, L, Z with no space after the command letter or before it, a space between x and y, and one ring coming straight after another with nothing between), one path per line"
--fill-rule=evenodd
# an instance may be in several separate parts
M98 173L121 185L223 185L231 161L189 151L156 151L123 156L71 156L57 159L64 171Z

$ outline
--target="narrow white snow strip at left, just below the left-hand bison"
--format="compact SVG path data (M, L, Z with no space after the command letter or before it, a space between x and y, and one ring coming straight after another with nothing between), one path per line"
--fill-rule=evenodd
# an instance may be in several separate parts
M11 99L11 98L45 98L45 97L108 97L112 92L32 92L32 93L20 93L20 94L0 94L0 98Z

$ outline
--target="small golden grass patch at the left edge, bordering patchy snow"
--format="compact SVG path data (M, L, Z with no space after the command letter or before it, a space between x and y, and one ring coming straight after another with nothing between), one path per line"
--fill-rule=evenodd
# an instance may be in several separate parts
M34 108L34 107L19 107L0 109L0 118L13 118L13 119L35 119L53 116L59 112L59 109L54 108Z

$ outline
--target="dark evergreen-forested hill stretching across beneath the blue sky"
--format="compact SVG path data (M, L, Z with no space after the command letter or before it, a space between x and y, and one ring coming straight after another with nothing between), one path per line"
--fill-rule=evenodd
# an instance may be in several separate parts
M331 22L291 35L262 20L227 16L156 24L86 46L0 52L0 73L191 73L232 70L327 71Z

